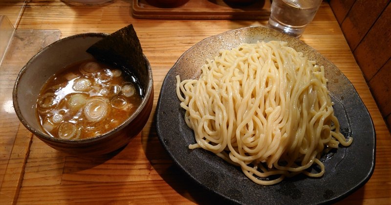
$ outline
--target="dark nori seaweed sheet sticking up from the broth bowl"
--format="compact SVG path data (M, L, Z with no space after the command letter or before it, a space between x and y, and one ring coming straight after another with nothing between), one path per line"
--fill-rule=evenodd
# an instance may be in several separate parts
M148 67L140 41L130 24L96 42L87 49L94 58L103 63L120 67L141 84L144 96L148 85Z

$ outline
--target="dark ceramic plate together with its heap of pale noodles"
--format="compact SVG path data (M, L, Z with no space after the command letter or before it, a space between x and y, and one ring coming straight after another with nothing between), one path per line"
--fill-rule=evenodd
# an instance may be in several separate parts
M264 26L209 37L167 73L158 137L195 182L239 204L333 203L375 162L357 91L302 41Z

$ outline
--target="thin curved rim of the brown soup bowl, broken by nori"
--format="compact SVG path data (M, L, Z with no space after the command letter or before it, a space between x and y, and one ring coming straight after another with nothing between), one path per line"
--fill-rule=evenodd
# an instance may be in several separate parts
M65 38L57 40L57 41L51 43L50 45L44 47L43 49L41 49L38 53L36 53L33 57L31 57L31 59L22 67L22 69L20 70L20 72L16 78L15 84L14 84L14 88L12 91L12 100L13 100L15 113L18 116L19 120L22 122L23 126L26 127L35 136L40 137L44 140L58 142L58 143L88 144L88 143L92 143L92 142L95 142L98 140L108 138L108 137L113 136L116 133L120 132L122 129L124 129L126 126L128 126L134 119L136 119L137 116L139 116L139 114L144 110L145 106L148 104L149 98L153 94L153 76L152 76L151 64L150 64L147 56L143 53L143 57L145 59L145 64L146 64L146 67L148 70L148 84L147 84L147 88L145 89L146 93L144 95L144 98L141 100L141 103L137 107L137 109L123 123L121 123L119 126L112 129L111 131L109 131L105 134L102 134L102 135L98 135L95 137L89 137L89 138L71 139L71 140L61 139L61 138L51 137L51 136L45 134L44 132L41 132L39 130L34 129L33 126L31 126L31 124L24 119L24 117L21 113L21 108L19 107L19 104L18 104L17 90L18 90L19 84L21 82L22 75L26 72L26 70L32 64L32 62L34 62L35 59L37 59L38 56L40 56L47 49L49 49L50 47L56 46L57 44L60 44L62 42L71 41L72 39L76 39L76 38L86 38L86 37L87 38L88 37L98 37L98 38L102 37L102 38L104 38L106 36L109 36L109 34L108 33L100 33L100 32L90 32L90 33L82 33L82 34L76 34L76 35L65 37ZM34 105L34 107L35 107L35 105Z

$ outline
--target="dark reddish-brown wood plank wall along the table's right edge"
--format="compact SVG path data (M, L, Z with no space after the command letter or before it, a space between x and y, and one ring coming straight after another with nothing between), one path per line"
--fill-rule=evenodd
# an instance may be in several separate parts
M329 0L383 118L391 128L390 0Z

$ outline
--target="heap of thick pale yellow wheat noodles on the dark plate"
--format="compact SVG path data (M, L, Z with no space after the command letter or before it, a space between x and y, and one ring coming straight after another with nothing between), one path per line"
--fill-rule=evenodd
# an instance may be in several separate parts
M195 133L189 148L240 166L256 183L299 173L321 177L321 156L352 142L339 132L323 66L285 42L222 50L207 60L198 80L176 80L185 121ZM320 169L309 171L314 163Z

